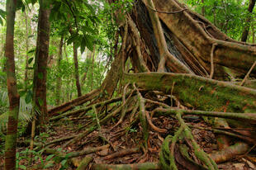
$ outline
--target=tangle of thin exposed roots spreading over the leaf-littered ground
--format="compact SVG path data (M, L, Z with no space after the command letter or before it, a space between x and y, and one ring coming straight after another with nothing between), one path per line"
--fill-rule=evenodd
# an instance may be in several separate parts
M149 74L150 75L150 74ZM166 78L166 77L163 77ZM162 78L162 80L163 80ZM172 94L165 94L164 92L157 91L140 91L138 87L133 84L133 89L131 92L126 92L129 87L129 83L124 87L122 97L116 97L115 99L102 101L94 103L92 106L87 106L82 109L77 109L74 111L70 111L73 113L79 114L69 114L64 113L62 116L64 117L84 117L86 118L86 124L83 125L84 130L82 133L78 135L73 135L70 137L65 137L63 139L55 139L50 141L47 144L38 144L37 149L44 149L45 153L53 153L60 158L65 158L67 155L70 158L76 158L81 155L86 155L88 153L93 153L97 151L104 150L103 153L98 153L98 155L105 156L103 159L108 163L111 163L116 158L122 158L133 154L139 154L137 156L135 163L142 164L126 164L126 165L111 165L111 164L97 164L92 163L92 169L99 168L128 168L128 169L181 169L180 167L190 166L191 169L217 169L216 163L223 162L229 160L230 158L235 158L236 155L243 155L248 152L249 145L243 145L239 143L238 145L227 147L220 152L211 153L210 156L205 153L200 146L197 144L196 139L192 135L191 128L197 128L200 130L210 130L216 134L228 135L232 136L236 139L244 139L249 142L249 144L254 144L255 139L252 135L249 134L250 130L246 128L236 128L236 129L226 129L226 128L206 128L206 127L193 127L190 124L186 124L183 120L182 116L212 116L212 117L220 117L220 118L228 118L230 120L240 120L246 121L248 124L255 125L256 117L253 113L232 113L232 112L218 112L218 111L197 111L197 110L187 110L180 109L177 107L179 105L179 99L175 98L175 102L173 101L173 95L176 95L176 90L180 90L179 83L175 81L175 88L172 87ZM137 84L136 84L137 85ZM137 85L138 86L138 85ZM174 85L173 85L174 86ZM230 86L230 85L227 85ZM131 86L130 86L131 87ZM140 82L139 82L140 87ZM242 87L243 88L243 87ZM241 88L241 89L242 89ZM243 88L244 89L244 88ZM155 89L154 89L155 90ZM204 90L204 88L200 89ZM169 90L170 91L170 90ZM199 92L200 92L199 91ZM132 97L137 93L137 97ZM152 99L152 100L151 100ZM116 103L120 102L122 103ZM107 106L111 104L110 110L107 110ZM180 106L180 105L179 105ZM103 109L97 109L103 108ZM88 116L87 111L92 110L95 116ZM160 119L162 117L169 117L173 120L178 120L180 127L174 135L169 135L170 131L173 129L169 129L167 127L159 127L159 123L155 122L156 117ZM58 118L58 119L57 119ZM53 117L53 120L59 120L62 118L61 116ZM114 127L110 130L105 129L106 125L113 119L119 119ZM198 118L197 118L198 119ZM187 120L187 119L186 119ZM79 119L70 119L70 121L81 121L84 120ZM117 127L118 125L118 127ZM116 146L113 142L116 139L121 139L125 135L130 133L133 127L139 126L141 131L141 141L140 148L143 149L141 152L138 148L124 148ZM116 131L113 131L115 128ZM120 129L118 129L120 128ZM150 131L149 128L152 130ZM97 131L96 131L97 130ZM107 134L108 133L108 134ZM159 141L159 148L162 145L162 149L160 152L159 163L153 164L143 164L143 162L147 161L150 157L151 153L155 152L155 144L152 144L152 133L157 134L155 137ZM92 139L87 139L83 141L82 139L88 135L92 135ZM163 135L167 137L163 142ZM155 138L154 137L154 138ZM91 137L90 137L91 138ZM68 141L67 141L68 140ZM126 139L127 140L127 139ZM123 143L127 141L124 140ZM62 145L62 148L71 147L71 144L76 144L78 148L89 146L90 143L94 143L95 141L100 141L101 144L106 144L103 146L98 146L96 148L86 148L83 151L79 152L71 152L71 153L63 153L59 152L56 149L50 149L50 147L61 144L61 142L67 141ZM163 144L162 144L163 142ZM37 144L37 143L36 143ZM241 145L242 144L242 145ZM246 146L246 147L245 147ZM108 148L111 149L108 149ZM240 149L244 147L243 149ZM228 150L226 150L228 149ZM229 151L229 152L227 152ZM106 153L107 152L107 153ZM227 152L227 153L225 153ZM225 154L224 154L225 153ZM107 156L106 156L107 155ZM74 159L73 159L74 160ZM80 164L82 167L88 167L88 163L92 161L92 158L85 158ZM216 161L216 163L215 163ZM71 161L72 162L72 161ZM78 165L78 163L76 163ZM148 166L149 167L145 167ZM138 167L139 166L139 167ZM152 168L153 166L153 168Z

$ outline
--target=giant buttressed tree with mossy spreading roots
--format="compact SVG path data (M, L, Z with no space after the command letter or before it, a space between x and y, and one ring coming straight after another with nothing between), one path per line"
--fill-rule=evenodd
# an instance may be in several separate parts
M116 1L108 0L108 2ZM126 110L126 108L134 107L134 103L138 103L140 105L138 109L139 119L144 129L144 146L147 149L149 142L147 124L155 131L163 132L152 125L150 116L146 115L152 109L150 107L152 103L159 104L159 102L152 102L152 100L149 102L150 98L158 99L159 95L162 94L174 96L174 99L171 100L175 100L177 106L184 106L187 109L193 108L202 112L172 108L163 105L163 103L160 103L159 106L168 109L150 110L151 116L175 115L181 125L173 137L168 136L164 140L159 159L162 168L178 169L174 159L178 158L175 157L176 149L181 149L182 146L179 146L177 141L184 139L184 143L191 144L191 149L195 151L195 155L206 165L207 169L217 169L216 163L225 161L230 158L230 155L220 153L217 154L219 156L217 158L218 156L211 154L210 158L202 152L182 116L186 114L220 116L232 119L228 119L230 126L244 128L246 125L250 125L251 120L255 120L255 114L247 113L256 112L256 90L252 87L241 87L225 81L229 80L226 68L235 70L242 76L249 73L251 77L255 78L256 68L252 67L256 60L255 45L230 39L216 26L213 26L210 21L192 12L178 0L140 0L135 3L132 12L125 13L123 10L116 10L114 15L122 42L111 65L111 70L102 83L100 89L102 95L97 95L98 91L93 91L50 110L50 114L55 115L57 111L68 111L73 106L81 105L92 98L95 100L90 105L94 104L94 107L105 106L108 102L117 100L115 98L112 101L101 102L112 97L119 82L119 85L124 87L124 94L130 85L131 89L137 91L137 98L128 97L132 101L130 102L132 104L129 105L129 100L126 100L126 96L123 95L122 105L117 106L117 109L111 111L111 114L116 116L117 113L121 112L120 120L122 120L124 119L123 113L129 112L129 109ZM133 70L134 73L126 73L124 69L128 58L132 64L130 70ZM243 85L243 83L241 84ZM93 109L96 115L100 114L93 106L71 111L63 116L74 116L75 114L81 116L90 109ZM149 108L145 108L146 106ZM122 109L124 107L125 109ZM99 111L102 109L104 108L99 109ZM57 116L52 120L58 120L59 117ZM107 115L97 123L102 125L110 117L111 115ZM246 119L246 123L244 123L244 119ZM238 120L243 121L239 122ZM219 123L218 120L216 122ZM90 125L94 128L93 130L97 129L96 123L92 122ZM91 132L92 129L86 130L64 146L83 139ZM239 132L239 134L246 135L249 137L247 141L255 143L253 132L246 131ZM241 146L237 144L234 147L238 145ZM246 146L246 144L244 145ZM230 150L225 151L225 153L230 153L234 147L228 148ZM245 152L248 148L244 147ZM235 148L235 150L237 149ZM244 150L241 152L243 153Z

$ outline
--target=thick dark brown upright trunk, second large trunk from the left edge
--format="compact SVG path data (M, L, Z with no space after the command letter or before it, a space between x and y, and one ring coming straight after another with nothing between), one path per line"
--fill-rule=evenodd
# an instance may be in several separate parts
M38 123L45 124L47 119L47 104L46 104L46 78L47 78L47 61L49 54L50 42L50 8L49 2L40 1L40 10L37 28L36 40L36 58L34 68L34 87L33 87L33 105Z

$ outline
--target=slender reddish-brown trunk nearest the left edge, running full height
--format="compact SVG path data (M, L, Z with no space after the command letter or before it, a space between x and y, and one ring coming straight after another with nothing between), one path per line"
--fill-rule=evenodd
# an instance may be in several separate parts
M12 170L16 168L17 123L20 105L20 96L17 92L17 79L15 74L15 60L13 48L13 35L17 0L7 0L6 5L7 35L5 56L7 59L7 89L10 106L7 124L7 137L5 142L4 168L6 170Z

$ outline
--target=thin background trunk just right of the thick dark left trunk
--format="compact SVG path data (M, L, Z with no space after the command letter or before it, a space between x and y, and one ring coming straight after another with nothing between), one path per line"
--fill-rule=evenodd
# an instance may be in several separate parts
M62 60L62 47L63 47L63 39L64 36L61 36L60 42L59 42L59 59L58 59L58 78L57 78L57 85L56 85L56 105L59 106L60 102L60 94L61 94L61 86L62 86L62 80L60 75L60 62Z

